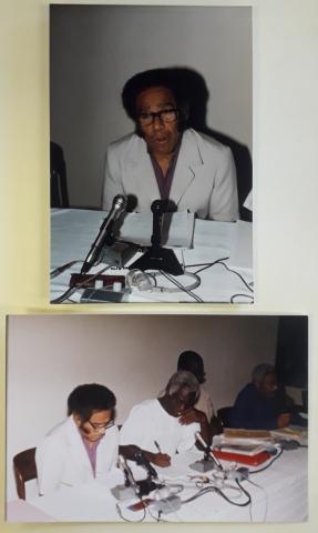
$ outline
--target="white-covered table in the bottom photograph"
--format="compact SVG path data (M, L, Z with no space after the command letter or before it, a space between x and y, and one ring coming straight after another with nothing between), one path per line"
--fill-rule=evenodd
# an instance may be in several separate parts
M185 484L178 494L186 500L197 492L194 481L189 475L197 472L189 465L203 454L192 450L176 456L168 469L156 469L161 480ZM223 462L228 470L230 463ZM252 469L256 470L256 469ZM211 474L211 473L209 473ZM216 483L222 486L217 477ZM176 512L165 513L162 517L168 522L301 522L307 519L307 450L299 447L285 451L267 470L250 476L243 482L244 487L250 493L252 505L234 506L215 492L208 492L196 500L184 503ZM232 485L232 486L229 486ZM226 482L223 492L233 501L242 502L246 496L238 497L238 491L234 489L235 482ZM237 489L237 485L236 485ZM146 496L147 497L147 496ZM38 513L42 513L52 521L74 522L121 522L123 519L116 510L117 501L112 495L105 483L92 482L78 487L63 487L55 493L37 497L27 505ZM132 501L120 503L123 516L129 521L137 521L143 517L143 511L133 512L127 509ZM12 506L9 502L8 507ZM34 521L28 516L34 516L34 512L25 513L23 502L19 515L16 503L16 514L11 513L8 519L12 522ZM146 522L156 520L154 509L150 507L145 514ZM41 519L39 519L41 521ZM42 520L43 521L43 520Z

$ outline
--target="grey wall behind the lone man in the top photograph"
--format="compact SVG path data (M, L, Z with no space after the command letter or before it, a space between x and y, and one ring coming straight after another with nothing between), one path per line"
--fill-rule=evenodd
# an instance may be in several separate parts
M252 153L252 9L52 6L51 140L66 161L72 205L100 205L105 147L133 130L125 81L187 67L209 91L206 123Z

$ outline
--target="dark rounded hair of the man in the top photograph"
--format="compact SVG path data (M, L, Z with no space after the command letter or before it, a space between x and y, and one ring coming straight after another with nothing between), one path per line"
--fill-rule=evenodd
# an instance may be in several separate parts
M127 115L136 121L136 99L145 89L152 87L165 87L170 89L176 101L179 112L179 123L186 127L188 114L188 99L184 88L178 82L177 76L173 68L152 69L139 72L130 78L124 84L122 91L122 102Z

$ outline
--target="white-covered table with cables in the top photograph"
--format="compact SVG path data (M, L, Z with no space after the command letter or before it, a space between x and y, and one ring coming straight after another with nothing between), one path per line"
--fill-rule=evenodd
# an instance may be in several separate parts
M83 261L99 233L100 225L105 218L104 211L89 211L80 209L53 210L51 218L51 271L73 260ZM253 302L253 269L252 269L252 223L238 221L215 222L195 220L193 249L174 249L178 260L189 273L196 273L201 284L192 292L202 302ZM140 254L141 255L141 254ZM227 259L224 259L227 258ZM131 264L135 258L131 260ZM219 261L213 266L207 263ZM193 266L191 266L193 265ZM201 265L201 266L198 266ZM90 273L96 273L103 264L93 266ZM233 269L235 272L229 271ZM79 273L81 263L68 269L51 280L51 301L63 294L72 273ZM109 273L126 274L127 269L110 268ZM238 275L240 274L242 278ZM187 285L193 278L182 275L175 278ZM124 294L127 302L196 302L195 296L176 290L175 285L164 276L156 279L164 291L155 289L152 292L133 289ZM177 292L171 292L171 291ZM79 290L72 294L70 301L79 303Z

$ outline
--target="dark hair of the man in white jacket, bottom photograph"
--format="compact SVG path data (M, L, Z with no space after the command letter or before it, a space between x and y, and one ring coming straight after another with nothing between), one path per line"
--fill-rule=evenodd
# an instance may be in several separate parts
M112 411L114 418L114 408L116 398L110 389L96 383L90 383L76 386L68 398L68 414L76 413L85 422L90 420L93 411Z

